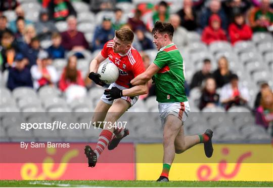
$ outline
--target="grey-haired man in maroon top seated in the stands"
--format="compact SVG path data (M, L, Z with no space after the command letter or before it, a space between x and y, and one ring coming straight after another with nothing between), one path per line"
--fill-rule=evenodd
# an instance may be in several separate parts
M68 30L62 32L62 46L66 50L81 51L88 48L84 34L77 30L77 19L75 16L67 18Z

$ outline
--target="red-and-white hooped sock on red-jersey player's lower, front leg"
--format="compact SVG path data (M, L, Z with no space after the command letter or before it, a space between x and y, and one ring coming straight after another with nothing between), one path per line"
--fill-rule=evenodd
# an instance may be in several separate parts
M101 132L96 149L94 150L94 152L97 154L97 159L99 159L104 148L108 145L108 143L112 139L112 135L113 133L109 130L103 130Z

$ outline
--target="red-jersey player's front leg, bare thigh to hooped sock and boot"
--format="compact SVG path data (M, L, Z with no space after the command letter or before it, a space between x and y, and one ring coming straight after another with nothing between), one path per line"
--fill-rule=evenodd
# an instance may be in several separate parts
M124 114L124 112L130 107L130 103L123 100L117 99L113 102L112 106L108 109L107 115L104 122L107 122L103 127L104 130L101 132L96 148L93 150L90 146L85 146L85 155L88 158L88 166L95 167L98 158L102 154L106 145L111 141L114 127L114 123ZM101 116L103 117L103 116Z

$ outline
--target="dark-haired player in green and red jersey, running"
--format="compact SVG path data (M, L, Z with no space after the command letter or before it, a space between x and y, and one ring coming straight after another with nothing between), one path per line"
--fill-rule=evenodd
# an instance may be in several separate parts
M179 50L172 42L173 26L157 21L152 30L157 56L147 70L131 81L133 86L148 82L153 76L156 85L156 100L163 130L163 170L158 181L169 181L168 175L175 153L181 154L190 147L204 143L205 154L212 156L212 131L185 136L184 123L190 106L185 94L185 66Z

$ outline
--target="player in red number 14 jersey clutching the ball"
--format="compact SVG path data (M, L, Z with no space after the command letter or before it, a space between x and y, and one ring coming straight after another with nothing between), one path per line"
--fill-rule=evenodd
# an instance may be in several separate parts
M89 78L100 86L106 84L100 80L97 73L102 61L109 58L118 68L118 80L111 84L95 108L92 122L107 122L113 125L123 113L138 100L139 95L148 93L146 84L130 87L130 81L145 71L141 55L132 47L133 32L130 29L115 31L113 40L108 41L102 51L90 63ZM97 124L98 125L98 124ZM88 167L95 167L98 158L106 145L108 149L114 149L120 140L129 134L127 128L105 126L101 132L96 148L93 150L86 145L84 153L88 158Z

